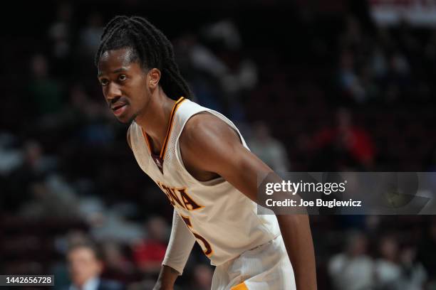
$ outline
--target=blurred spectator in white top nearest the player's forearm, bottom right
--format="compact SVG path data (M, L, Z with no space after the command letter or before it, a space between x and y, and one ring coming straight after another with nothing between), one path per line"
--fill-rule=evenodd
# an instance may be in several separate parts
M328 262L328 274L336 290L362 290L374 286L373 260L366 254L367 240L361 232L351 232L344 252Z

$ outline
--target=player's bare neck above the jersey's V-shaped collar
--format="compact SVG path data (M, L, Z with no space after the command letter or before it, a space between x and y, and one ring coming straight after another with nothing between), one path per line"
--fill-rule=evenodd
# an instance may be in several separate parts
M147 107L135 119L135 122L150 136L155 149L162 148L167 128L170 126L170 114L174 103L175 100L167 97L162 88L158 87L152 93Z

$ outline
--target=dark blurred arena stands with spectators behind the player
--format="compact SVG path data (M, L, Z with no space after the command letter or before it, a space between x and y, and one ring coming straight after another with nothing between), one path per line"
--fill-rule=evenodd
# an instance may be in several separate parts
M172 206L135 163L93 65L104 24L147 17L200 104L277 171L434 171L435 0L14 1L1 29L0 274L55 274L91 240L151 289ZM432 216L312 216L318 288L436 289ZM196 246L177 289L209 289Z

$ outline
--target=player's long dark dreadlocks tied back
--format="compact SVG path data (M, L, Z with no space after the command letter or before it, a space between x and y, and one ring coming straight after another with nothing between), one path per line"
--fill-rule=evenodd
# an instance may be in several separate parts
M108 50L130 48L130 61L138 61L145 70L160 70L160 86L172 100L192 97L187 82L180 75L172 44L152 23L139 16L115 16L105 26L95 54L95 66Z

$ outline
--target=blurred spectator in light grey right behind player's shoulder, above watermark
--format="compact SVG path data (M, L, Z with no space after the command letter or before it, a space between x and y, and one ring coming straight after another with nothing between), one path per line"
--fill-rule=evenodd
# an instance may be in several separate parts
M266 124L262 122L254 124L249 148L274 171L286 172L290 170L285 146L271 136Z

